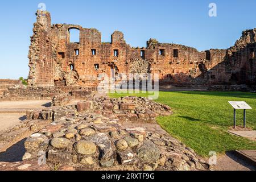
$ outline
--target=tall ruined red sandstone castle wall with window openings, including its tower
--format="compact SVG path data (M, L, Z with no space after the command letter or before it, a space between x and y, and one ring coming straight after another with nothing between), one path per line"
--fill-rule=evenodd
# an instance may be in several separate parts
M51 26L49 13L39 15L31 38L29 86L97 86L102 73L159 73L160 84L255 84L256 29L244 31L229 49L199 52L155 39L146 48L133 48L122 32L115 31L110 43L102 43L94 28ZM80 32L77 43L70 42L74 28Z

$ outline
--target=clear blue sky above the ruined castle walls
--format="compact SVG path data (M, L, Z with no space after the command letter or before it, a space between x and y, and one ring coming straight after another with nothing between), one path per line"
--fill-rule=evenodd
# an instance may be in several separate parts
M27 77L30 36L41 2L52 23L97 28L102 42L110 42L110 35L119 30L134 47L146 47L148 39L156 38L199 51L229 48L242 30L256 27L255 0L1 1L0 78ZM217 17L208 15L211 2L217 5Z

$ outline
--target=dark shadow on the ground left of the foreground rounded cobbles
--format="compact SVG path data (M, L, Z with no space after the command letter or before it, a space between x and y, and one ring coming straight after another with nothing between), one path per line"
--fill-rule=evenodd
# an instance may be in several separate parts
M15 143L13 146L8 148L5 152L0 153L0 162L20 162L22 161L22 157L26 152L24 147L24 142L27 138L20 140L18 143Z

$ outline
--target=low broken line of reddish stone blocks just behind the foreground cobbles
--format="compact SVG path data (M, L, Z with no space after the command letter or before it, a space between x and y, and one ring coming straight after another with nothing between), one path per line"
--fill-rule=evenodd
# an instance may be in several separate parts
M155 122L159 115L172 114L167 105L158 104L145 97L100 97L57 109L28 110L26 115L27 119L56 121L67 115L87 112L102 114L104 117L114 115L122 122Z

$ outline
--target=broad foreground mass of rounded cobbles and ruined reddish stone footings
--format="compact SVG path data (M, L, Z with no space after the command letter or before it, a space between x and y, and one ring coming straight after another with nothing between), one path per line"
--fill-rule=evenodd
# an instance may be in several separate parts
M144 97L27 111L26 121L0 133L3 150L26 137L23 161L1 163L0 170L208 170L195 151L155 123L156 116L170 114L169 106Z

